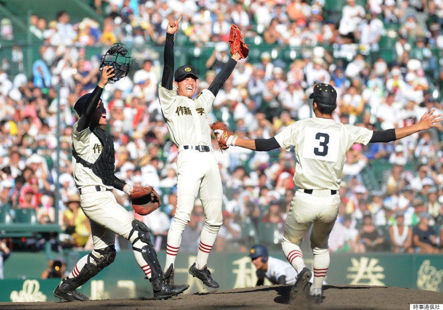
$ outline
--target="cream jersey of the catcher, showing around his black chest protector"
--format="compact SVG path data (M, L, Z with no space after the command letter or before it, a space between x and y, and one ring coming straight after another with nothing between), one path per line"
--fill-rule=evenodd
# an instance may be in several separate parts
M94 163L98 156L100 156L103 146L97 136L88 127L80 132L77 131L78 121L75 122L72 128L71 144L74 146L75 152L84 160ZM86 168L81 163L77 162L72 156L72 175L75 180L77 188L84 186L104 186L112 189L112 186L105 186L99 176L97 176L92 169Z

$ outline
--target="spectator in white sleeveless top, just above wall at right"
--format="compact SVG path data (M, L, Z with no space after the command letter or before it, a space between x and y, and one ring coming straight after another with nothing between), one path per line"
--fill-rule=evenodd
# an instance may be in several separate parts
M389 226L389 239L394 253L413 253L412 230L405 225L405 215L402 211L395 214L395 224Z

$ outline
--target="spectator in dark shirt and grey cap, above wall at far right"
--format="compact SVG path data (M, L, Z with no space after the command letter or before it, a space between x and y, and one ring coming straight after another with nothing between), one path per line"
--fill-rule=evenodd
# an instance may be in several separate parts
M416 253L439 253L436 233L429 225L431 216L427 212L420 213L420 221L412 230L412 241Z

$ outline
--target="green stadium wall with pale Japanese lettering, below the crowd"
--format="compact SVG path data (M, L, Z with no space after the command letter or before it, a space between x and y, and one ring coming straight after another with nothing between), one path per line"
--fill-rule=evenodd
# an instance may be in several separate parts
M64 256L67 269L71 270L86 254L67 253ZM270 255L285 259L281 252L271 252ZM162 262L165 256L163 251L158 253ZM5 262L5 279L0 280L0 302L57 301L52 292L60 279L40 279L47 260L43 252L12 253ZM194 260L194 253L179 253L175 282L190 284L187 294L208 292L200 280L188 273ZM312 266L312 257L305 258L305 261L308 267ZM255 268L246 253L211 253L208 265L214 279L220 283L220 290L252 287L256 283ZM326 282L330 285L398 286L443 292L442 278L442 255L331 253ZM95 300L152 297L150 282L144 279L132 251L128 250L119 251L113 264L78 290Z

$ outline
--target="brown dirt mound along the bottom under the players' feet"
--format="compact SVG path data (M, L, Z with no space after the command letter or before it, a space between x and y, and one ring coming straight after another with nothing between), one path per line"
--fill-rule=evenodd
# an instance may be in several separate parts
M410 309L410 304L442 304L443 293L392 286L324 285L319 305L288 305L290 285L237 288L205 294L185 294L158 301L106 299L87 302L0 303L2 310L199 310L199 309Z

